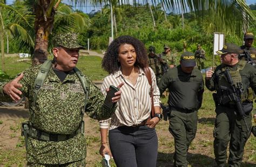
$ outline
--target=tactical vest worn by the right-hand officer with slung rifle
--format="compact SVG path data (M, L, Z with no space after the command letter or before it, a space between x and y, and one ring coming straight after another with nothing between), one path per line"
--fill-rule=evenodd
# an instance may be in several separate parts
M241 78L240 71L242 71L242 69L244 69L246 63L247 63L246 61L240 60L238 62L237 70L230 71L230 75L231 75L231 78L232 78L235 86L237 86L237 84L242 84L242 78ZM218 103L221 105L226 105L227 103L233 105L234 102L230 99L229 92L227 91L227 89L230 88L231 86L230 86L230 83L228 83L227 78L224 74L224 71L226 68L227 68L226 66L221 65L221 73L220 73L219 81L218 81L219 91L217 91L217 98L218 98L217 100L218 100ZM227 88L227 89L225 89L225 88ZM246 100L252 101L253 100L252 88L250 87L246 90L242 89L240 98L241 98L242 102L245 102Z

